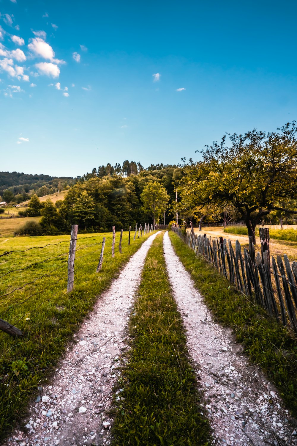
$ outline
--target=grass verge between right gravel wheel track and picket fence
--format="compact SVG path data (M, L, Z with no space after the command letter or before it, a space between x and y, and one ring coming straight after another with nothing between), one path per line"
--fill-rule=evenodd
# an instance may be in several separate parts
M169 231L179 259L191 273L216 320L230 326L252 363L276 385L294 417L297 416L297 339L269 318L264 310L230 285L211 265Z

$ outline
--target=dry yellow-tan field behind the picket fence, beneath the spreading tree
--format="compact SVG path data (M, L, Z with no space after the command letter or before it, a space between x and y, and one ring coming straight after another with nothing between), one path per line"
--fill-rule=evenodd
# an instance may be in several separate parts
M271 227L272 229L279 229L279 225L274 225ZM285 227L285 226L284 226ZM199 234L199 228L194 228L194 232ZM223 227L203 227L202 232L200 234L207 234L207 237L210 235L214 238L223 237L224 239L230 239L232 242L233 248L235 248L235 242L238 240L241 244L241 247L248 247L248 236L247 235L239 235L239 234L227 234L224 232ZM277 255L284 256L287 254L290 261L297 260L297 242L290 242L288 240L275 240L270 239L269 242L270 255L276 258ZM260 252L260 238L256 236L256 246L255 251Z

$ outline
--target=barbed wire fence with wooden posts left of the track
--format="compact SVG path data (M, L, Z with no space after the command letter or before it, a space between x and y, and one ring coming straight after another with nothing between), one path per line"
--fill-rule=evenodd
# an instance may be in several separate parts
M20 320L36 312L57 294L71 292L75 280L81 280L90 273L99 273L106 239L112 257L115 249L122 252L122 231L116 243L115 227L112 233L83 237L77 236L77 229L78 225L73 225L67 240L0 254L0 330L12 336L22 335L22 331L16 328ZM145 223L143 229L141 224L139 227L136 225L132 239L130 227L128 245L155 229L158 225L153 227Z

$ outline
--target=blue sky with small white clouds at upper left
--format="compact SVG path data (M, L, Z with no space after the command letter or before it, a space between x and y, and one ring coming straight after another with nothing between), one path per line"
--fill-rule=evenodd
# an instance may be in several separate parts
M177 164L297 118L294 1L0 0L0 170Z

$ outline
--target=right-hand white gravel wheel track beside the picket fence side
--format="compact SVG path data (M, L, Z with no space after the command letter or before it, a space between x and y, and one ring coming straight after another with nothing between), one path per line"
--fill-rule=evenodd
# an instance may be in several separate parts
M205 391L214 444L297 445L296 421L283 408L273 384L251 366L231 330L213 322L203 297L171 245L163 239L175 300L187 330L189 353Z

